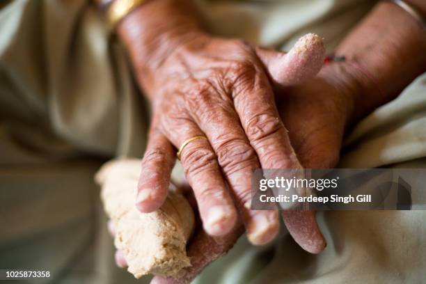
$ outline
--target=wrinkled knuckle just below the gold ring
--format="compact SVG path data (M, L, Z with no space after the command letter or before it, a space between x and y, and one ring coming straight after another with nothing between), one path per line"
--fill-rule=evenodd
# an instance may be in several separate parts
M216 168L216 155L210 149L187 146L182 154L182 163L184 164L184 173L189 176L196 176L203 171Z

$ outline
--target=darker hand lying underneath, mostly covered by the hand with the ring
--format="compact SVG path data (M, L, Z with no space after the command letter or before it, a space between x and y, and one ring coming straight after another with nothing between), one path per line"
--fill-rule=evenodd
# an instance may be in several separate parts
M305 168L336 166L342 136L348 123L353 123L352 95L346 82L331 68L323 68L319 76L305 84L276 90L276 104L297 157ZM325 242L312 211L283 211L290 234L306 251L319 252ZM224 255L243 232L240 223L226 237L210 237L198 230L189 244L192 267L180 279L155 277L153 283L189 283L210 262Z

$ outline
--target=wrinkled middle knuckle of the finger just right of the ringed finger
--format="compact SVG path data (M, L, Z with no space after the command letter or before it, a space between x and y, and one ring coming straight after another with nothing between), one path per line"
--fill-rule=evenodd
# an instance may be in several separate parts
M218 149L219 165L228 175L246 167L255 166L257 157L251 145L239 139L223 143Z

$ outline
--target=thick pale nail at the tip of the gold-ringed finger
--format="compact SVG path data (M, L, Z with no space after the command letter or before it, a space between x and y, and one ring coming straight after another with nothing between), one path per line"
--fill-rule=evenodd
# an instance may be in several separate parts
M214 206L207 212L204 222L204 230L209 235L226 235L237 221L237 212L234 208L226 206Z

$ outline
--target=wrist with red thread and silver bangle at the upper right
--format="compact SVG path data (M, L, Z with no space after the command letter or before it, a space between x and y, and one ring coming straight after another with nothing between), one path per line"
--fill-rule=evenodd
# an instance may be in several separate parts
M336 50L346 60L325 68L352 97L352 123L393 100L425 72L425 48L426 34L418 22L393 3L377 4Z

